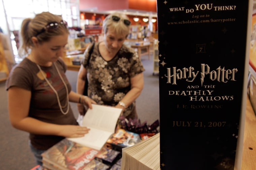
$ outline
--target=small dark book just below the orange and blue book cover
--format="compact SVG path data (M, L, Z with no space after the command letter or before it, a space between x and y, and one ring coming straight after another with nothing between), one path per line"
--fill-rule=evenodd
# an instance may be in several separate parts
M94 159L107 165L113 165L120 157L119 151L103 147Z

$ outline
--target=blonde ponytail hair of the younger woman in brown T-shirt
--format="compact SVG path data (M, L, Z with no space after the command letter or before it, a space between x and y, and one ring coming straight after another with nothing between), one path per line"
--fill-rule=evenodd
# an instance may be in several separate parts
M21 45L19 48L19 54L25 55L28 53L29 49L33 47L33 42L31 41L31 37L33 36L38 39L39 43L42 43L50 41L53 36L69 33L68 29L63 24L59 24L58 29L42 32L45 26L50 22L60 23L61 21L61 16L50 12L36 14L33 19L24 19L20 31Z

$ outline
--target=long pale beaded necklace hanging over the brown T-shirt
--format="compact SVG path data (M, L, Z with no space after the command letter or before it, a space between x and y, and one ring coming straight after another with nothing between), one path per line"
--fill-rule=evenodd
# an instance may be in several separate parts
M62 76L61 76L61 74L60 74L60 72L59 72L59 69L57 68L56 64L55 64L55 63L53 63L53 64L54 64L54 67L55 67L55 69L57 70L57 72L58 72L58 74L59 74L59 76L60 76L61 81L63 82L63 84L64 84L64 86L65 86L65 88L66 88L66 93L67 93L67 102L66 102L66 104L68 105L68 108L67 108L67 111L66 111L66 112L64 112L64 111L62 110L62 106L61 106L61 103L60 103L60 98L59 98L59 95L58 95L57 91L54 89L54 87L52 86L52 84L51 84L51 83L49 82L49 80L46 78L46 76L44 75L44 73L43 73L41 67L36 63L38 69L40 70L41 74L43 75L43 78L45 79L45 81L49 84L49 86L52 88L52 90L53 90L54 93L56 94L57 100L58 100L58 104L59 104L59 107L60 107L60 111L61 111L63 114L67 114L68 111L69 111L68 88L67 88L67 85L66 85L65 81L63 80L63 78L62 78ZM66 104L65 104L65 106L66 106ZM65 106L64 106L64 107L65 107Z

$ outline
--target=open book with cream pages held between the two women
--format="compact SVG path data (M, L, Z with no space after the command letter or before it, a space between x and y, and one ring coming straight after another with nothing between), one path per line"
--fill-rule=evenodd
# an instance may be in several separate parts
M115 133L121 112L121 108L92 104L92 109L86 112L82 125L90 128L89 133L84 137L67 139L100 150L107 139Z

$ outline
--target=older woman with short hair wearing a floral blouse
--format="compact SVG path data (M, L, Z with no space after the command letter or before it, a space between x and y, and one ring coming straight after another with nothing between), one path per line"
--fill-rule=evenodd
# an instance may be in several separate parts
M97 104L110 105L123 109L126 118L137 118L135 99L143 89L143 71L145 70L137 53L124 45L129 31L130 21L125 14L112 13L103 21L103 41L91 46L78 72L77 93L83 94L85 80L88 77L88 96ZM88 73L88 76L87 76ZM78 110L84 113L84 106L78 104Z

